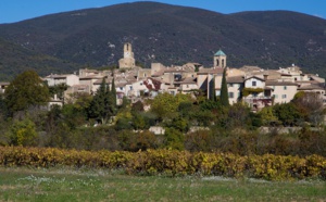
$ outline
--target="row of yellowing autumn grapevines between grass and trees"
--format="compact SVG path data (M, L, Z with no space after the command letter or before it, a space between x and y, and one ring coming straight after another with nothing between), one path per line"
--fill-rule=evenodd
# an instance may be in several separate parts
M89 167L122 169L128 175L225 176L267 180L326 179L326 159L318 155L283 156L203 153L175 150L78 151L53 148L0 147L4 167Z

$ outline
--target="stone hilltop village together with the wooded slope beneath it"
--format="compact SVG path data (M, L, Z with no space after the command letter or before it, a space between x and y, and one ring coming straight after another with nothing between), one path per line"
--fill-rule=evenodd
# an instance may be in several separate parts
M325 154L325 80L317 75L294 64L233 68L222 50L211 67L136 64L125 43L118 68L43 78L26 71L1 84L0 144Z

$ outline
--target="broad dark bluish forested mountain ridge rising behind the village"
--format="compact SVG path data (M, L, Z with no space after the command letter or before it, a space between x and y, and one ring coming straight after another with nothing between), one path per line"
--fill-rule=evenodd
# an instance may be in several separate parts
M209 67L222 49L231 67L296 63L326 76L326 21L289 11L222 14L156 2L123 3L2 24L0 38L72 64L59 67L61 72L117 64L123 43L131 42L136 60L147 67L151 62Z

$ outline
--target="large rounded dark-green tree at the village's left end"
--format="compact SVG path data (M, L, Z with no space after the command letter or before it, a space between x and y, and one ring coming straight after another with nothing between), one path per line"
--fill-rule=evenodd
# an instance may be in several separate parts
M30 106L47 104L49 89L35 71L26 71L15 77L4 92L5 105L12 115Z

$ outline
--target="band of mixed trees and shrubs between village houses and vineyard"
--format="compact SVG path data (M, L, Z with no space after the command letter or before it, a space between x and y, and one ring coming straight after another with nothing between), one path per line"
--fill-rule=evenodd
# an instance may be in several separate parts
M34 76L37 74L30 72L17 76L0 99L1 146L326 156L325 112L314 93L299 92L290 103L259 113L241 102L228 105L223 104L223 98L206 99L201 91L162 93L133 104L124 99L117 105L112 96L115 88L103 80L95 96L74 94L74 102L43 110L39 105L64 88L49 89L41 80L30 78ZM165 131L154 135L149 131L151 126ZM263 132L262 126L269 131ZM301 129L278 131L288 126Z

